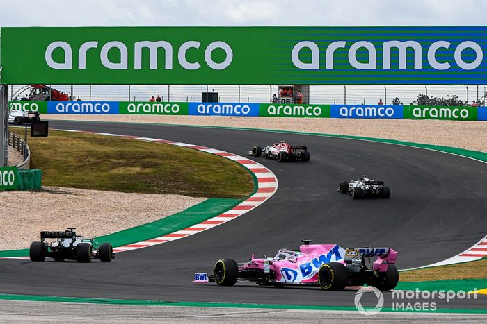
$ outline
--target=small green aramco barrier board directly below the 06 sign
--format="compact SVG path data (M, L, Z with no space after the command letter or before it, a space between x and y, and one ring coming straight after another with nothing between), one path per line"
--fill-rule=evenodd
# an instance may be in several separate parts
M259 116L329 118L330 105L290 105L282 103L273 103L269 105L261 103L259 105Z

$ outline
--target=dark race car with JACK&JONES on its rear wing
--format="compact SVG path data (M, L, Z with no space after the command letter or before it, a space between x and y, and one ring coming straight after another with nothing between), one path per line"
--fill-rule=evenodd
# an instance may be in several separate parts
M68 228L64 232L40 232L40 242L32 242L29 249L31 261L42 262L46 257L52 257L55 261L69 259L77 262L90 262L91 259L111 262L115 259L111 244L98 244L93 239L83 239L74 230ZM46 239L57 240L48 242Z

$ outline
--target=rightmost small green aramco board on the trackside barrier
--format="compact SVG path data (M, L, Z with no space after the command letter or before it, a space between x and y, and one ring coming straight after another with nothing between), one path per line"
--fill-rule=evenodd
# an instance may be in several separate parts
M446 119L461 121L476 121L477 107L459 106L424 106L405 105L404 119Z

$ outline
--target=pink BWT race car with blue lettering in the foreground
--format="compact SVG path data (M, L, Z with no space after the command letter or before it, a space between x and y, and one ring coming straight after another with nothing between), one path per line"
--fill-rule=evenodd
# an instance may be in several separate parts
M299 250L282 248L276 257L256 259L237 264L233 259L220 259L209 282L233 286L238 281L260 285L319 284L325 290L342 290L347 286L367 284L381 291L396 287L399 273L394 265L397 252L392 248L341 248L336 244L304 243ZM366 265L377 259L372 267Z

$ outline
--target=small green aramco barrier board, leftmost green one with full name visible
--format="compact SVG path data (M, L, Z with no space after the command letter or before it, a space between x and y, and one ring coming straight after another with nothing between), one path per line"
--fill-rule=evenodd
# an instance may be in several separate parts
M119 114L188 114L188 103L168 103L147 101L118 103Z

